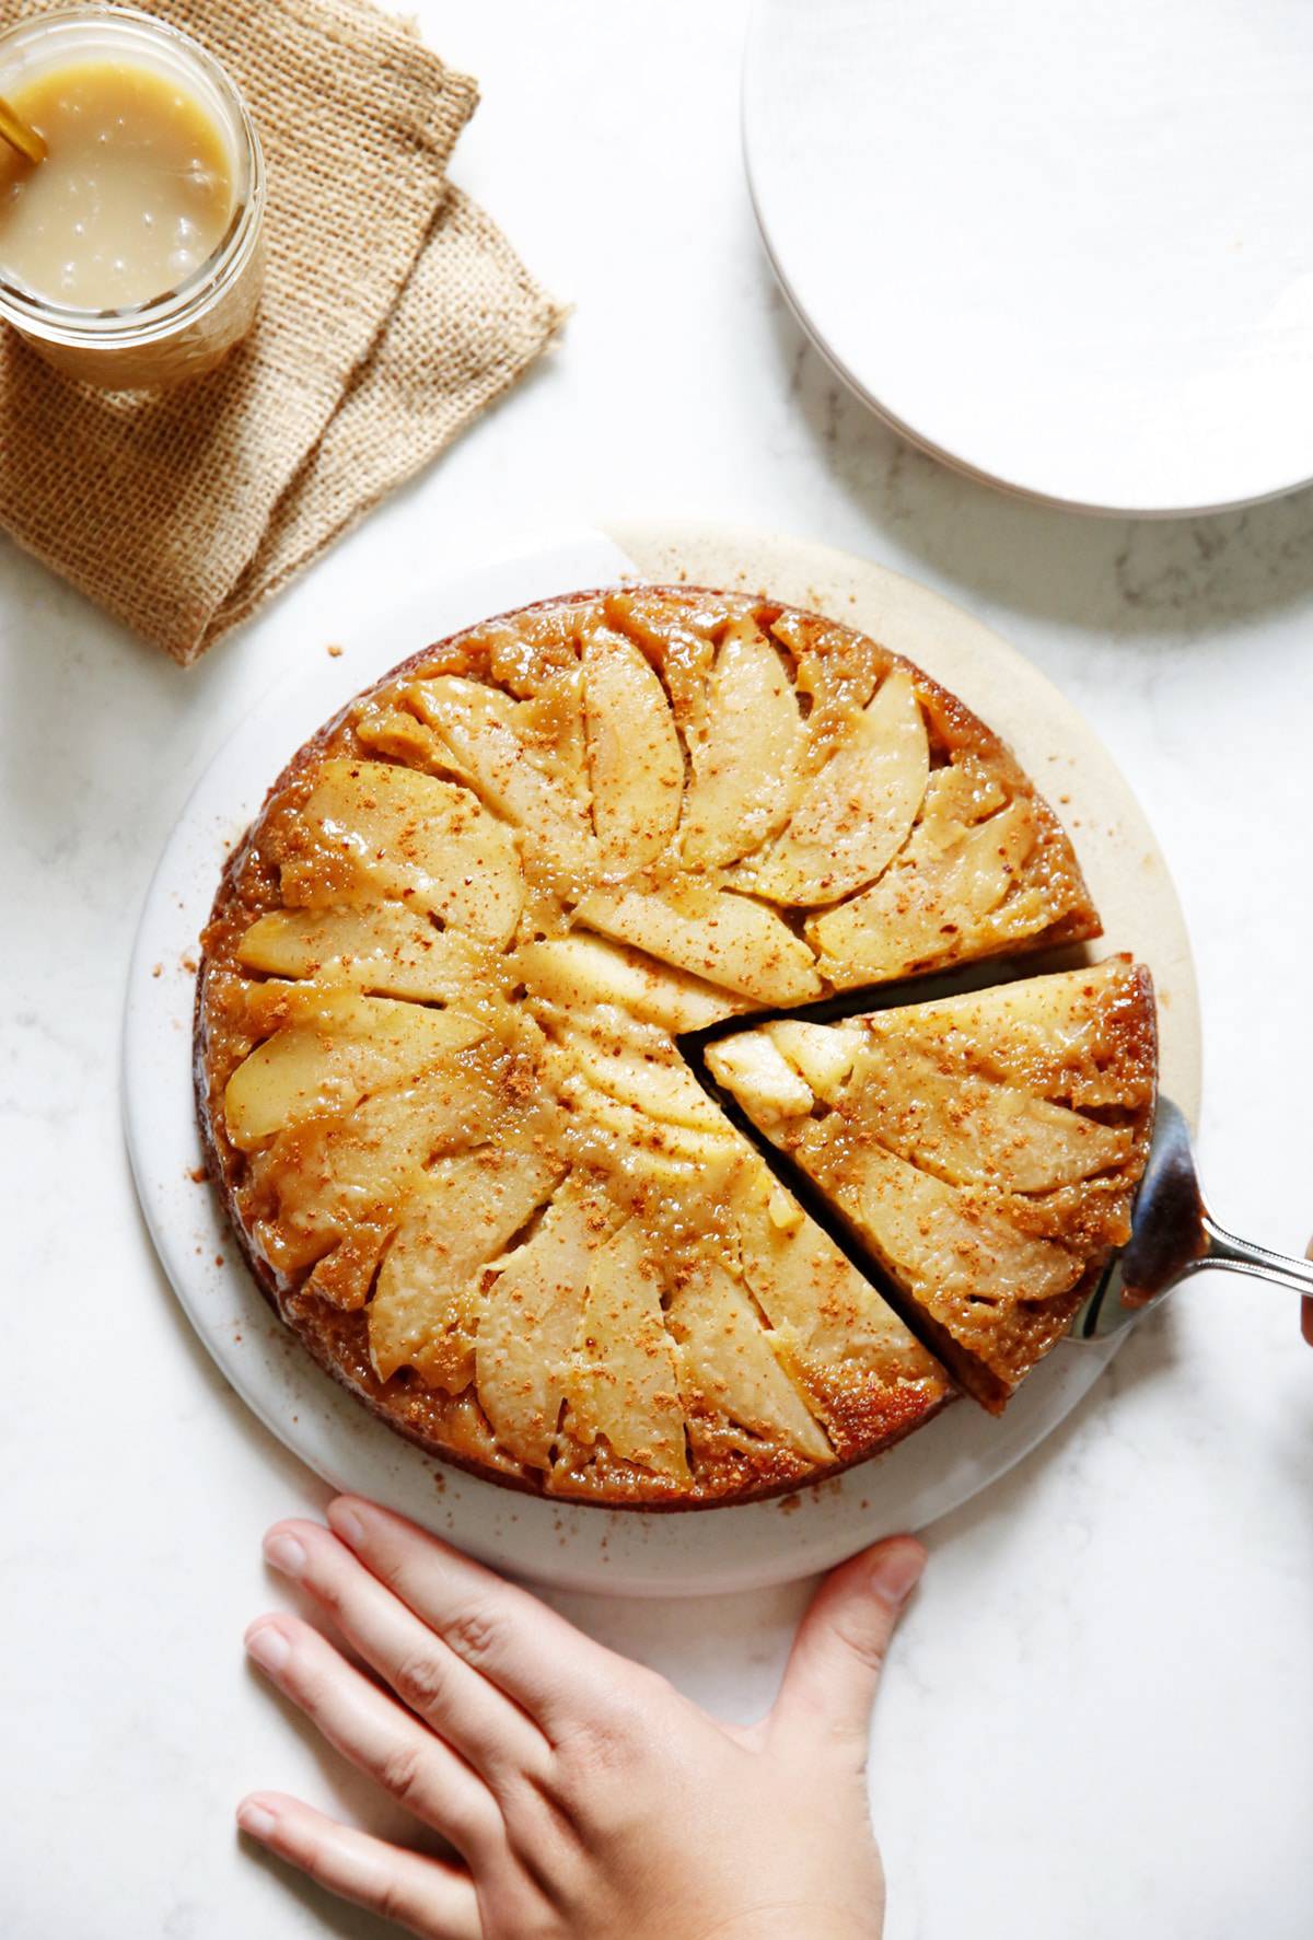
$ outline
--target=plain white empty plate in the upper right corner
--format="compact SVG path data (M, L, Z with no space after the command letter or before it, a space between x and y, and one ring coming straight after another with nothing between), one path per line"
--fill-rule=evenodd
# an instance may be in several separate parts
M1092 510L1313 477L1313 6L756 0L766 248L871 405Z

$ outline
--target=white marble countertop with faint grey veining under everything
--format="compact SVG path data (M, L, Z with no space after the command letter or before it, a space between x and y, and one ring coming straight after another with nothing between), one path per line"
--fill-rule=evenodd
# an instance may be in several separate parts
M1098 522L952 477L873 423L756 241L739 4L419 14L483 83L458 178L578 305L555 353L192 673L0 541L6 1940L376 1930L233 1833L262 1783L388 1818L244 1668L242 1624L277 1595L260 1533L322 1490L173 1302L116 1059L138 904L192 780L334 615L417 561L692 512L849 547L989 619L1104 733L1175 871L1220 1211L1294 1251L1313 1228L1313 501ZM890 1940L1303 1940L1313 1354L1294 1300L1199 1282L929 1542L875 1732ZM559 1600L747 1713L803 1597Z

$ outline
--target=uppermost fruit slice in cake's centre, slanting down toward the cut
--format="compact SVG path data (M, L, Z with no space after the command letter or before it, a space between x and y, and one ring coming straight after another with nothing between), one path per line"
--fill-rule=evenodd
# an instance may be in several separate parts
M617 943L659 956L708 984L760 1003L801 1003L820 993L811 951L764 902L733 890L593 890L578 918Z

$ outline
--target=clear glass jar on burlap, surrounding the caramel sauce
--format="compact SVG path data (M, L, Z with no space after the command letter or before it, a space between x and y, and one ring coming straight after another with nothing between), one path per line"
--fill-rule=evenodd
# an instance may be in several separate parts
M25 287L4 264L0 316L47 363L105 390L155 390L200 376L250 330L264 279L264 157L242 97L190 35L122 6L41 14L0 33L0 95L72 62L151 68L190 93L213 120L233 169L227 231L175 289L116 310L64 307Z

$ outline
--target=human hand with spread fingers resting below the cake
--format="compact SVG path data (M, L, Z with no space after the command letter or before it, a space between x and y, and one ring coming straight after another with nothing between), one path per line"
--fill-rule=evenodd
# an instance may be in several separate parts
M310 1624L246 1649L353 1763L458 1853L444 1862L252 1793L239 1826L423 1940L879 1940L867 1725L925 1552L836 1569L774 1709L720 1725L661 1676L355 1496L277 1523L266 1558L388 1690Z

